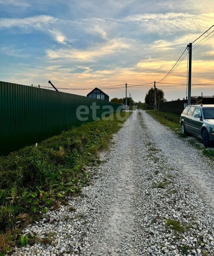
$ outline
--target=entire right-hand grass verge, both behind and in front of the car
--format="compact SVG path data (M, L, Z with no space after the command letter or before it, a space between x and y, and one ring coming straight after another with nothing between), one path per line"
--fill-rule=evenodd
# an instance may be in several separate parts
M179 137L184 137L181 134L181 128L180 128L180 115L168 113L168 112L161 112L161 111L155 111L150 110L146 111L149 115L153 116L160 124L168 126L172 131L176 132L176 134L179 135ZM188 141L191 145L194 147L197 147L198 149L201 149L201 146L198 147L198 145L195 143L195 141ZM204 156L207 156L209 159L214 160L214 150L211 148L202 148L202 154Z

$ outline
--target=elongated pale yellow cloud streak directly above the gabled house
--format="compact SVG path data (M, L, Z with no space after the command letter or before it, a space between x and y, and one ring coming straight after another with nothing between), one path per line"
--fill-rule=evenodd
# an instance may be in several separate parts
M130 48L130 44L124 39L112 39L105 44L100 44L87 50L74 48L61 48L58 50L46 50L49 59L69 59L83 62L95 61L96 58L107 55L119 54Z

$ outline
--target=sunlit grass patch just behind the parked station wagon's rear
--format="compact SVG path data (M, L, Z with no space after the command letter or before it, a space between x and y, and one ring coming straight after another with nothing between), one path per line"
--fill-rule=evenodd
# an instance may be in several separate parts
M153 116L160 124L168 126L174 132L180 132L180 115L158 110L146 111Z

